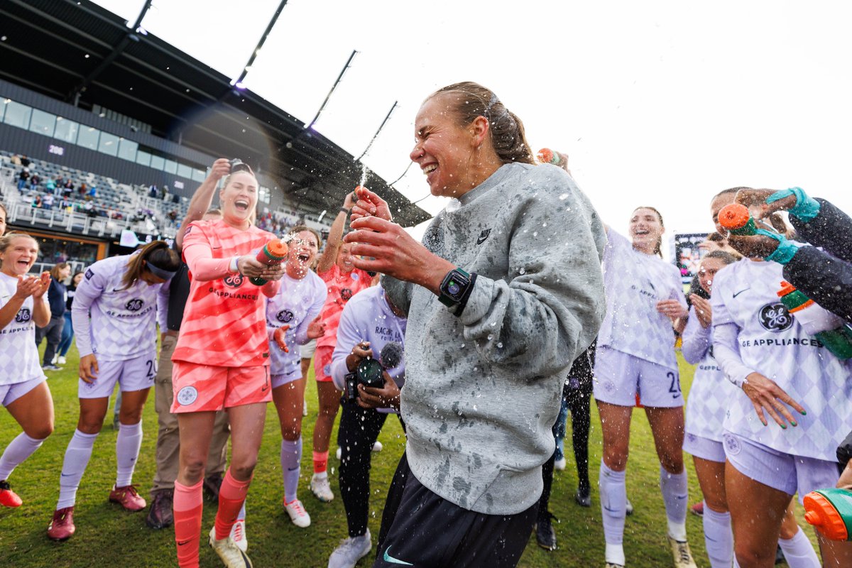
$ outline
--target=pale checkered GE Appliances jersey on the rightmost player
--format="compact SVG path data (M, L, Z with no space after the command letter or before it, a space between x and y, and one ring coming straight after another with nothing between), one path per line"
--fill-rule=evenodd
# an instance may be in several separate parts
M738 396L728 405L724 427L774 450L833 462L852 430L852 364L842 363L787 313L777 295L782 269L774 262L740 261L719 271L713 325L736 324L737 345L729 347L739 348L747 368L778 383L807 415L791 410L797 427L782 429L769 416L763 426L751 400Z

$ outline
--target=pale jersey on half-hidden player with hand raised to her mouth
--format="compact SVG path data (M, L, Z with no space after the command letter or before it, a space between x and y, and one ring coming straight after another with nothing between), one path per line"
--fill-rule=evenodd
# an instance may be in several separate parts
M695 307L689 310L689 321L683 330L684 357L699 359L695 367L692 387L687 399L687 435L722 442L722 422L731 400L746 397L734 383L728 381L722 368L713 359L713 328L703 328L695 315Z

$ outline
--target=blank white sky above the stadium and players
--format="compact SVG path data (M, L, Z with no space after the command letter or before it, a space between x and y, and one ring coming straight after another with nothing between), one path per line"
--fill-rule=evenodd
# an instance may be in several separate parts
M98 0L131 22L142 0ZM279 0L155 0L143 21L239 76ZM387 181L409 164L423 98L473 80L523 120L527 140L567 152L579 185L625 232L652 205L671 232L710 231L730 186L802 186L852 212L852 4L508 0L290 0L245 84L316 124ZM202 8L203 7L203 8ZM416 167L396 184L428 195ZM420 203L437 213L440 198Z

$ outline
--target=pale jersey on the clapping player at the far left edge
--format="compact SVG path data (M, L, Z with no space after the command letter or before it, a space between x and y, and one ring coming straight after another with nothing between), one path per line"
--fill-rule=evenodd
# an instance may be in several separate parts
M5 306L17 291L18 278L0 273L0 307ZM48 303L46 292L39 301ZM42 365L38 362L33 306L31 295L12 321L0 330L0 385L13 385L44 376Z

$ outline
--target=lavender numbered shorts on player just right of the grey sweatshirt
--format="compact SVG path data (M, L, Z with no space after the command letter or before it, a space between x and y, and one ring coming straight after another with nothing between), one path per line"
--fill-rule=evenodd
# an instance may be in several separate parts
M636 406L641 402L642 406L652 408L683 406L681 380L676 369L610 347L598 347L595 353L594 388L595 399L609 404Z

